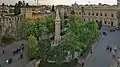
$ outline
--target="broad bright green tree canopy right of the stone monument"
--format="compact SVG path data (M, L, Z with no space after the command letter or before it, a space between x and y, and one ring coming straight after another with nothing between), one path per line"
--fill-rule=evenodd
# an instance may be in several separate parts
M72 21L73 20L73 21ZM66 35L69 40L64 43L69 45L69 50L74 52L85 52L99 36L98 26L95 22L84 22L80 19L70 18Z

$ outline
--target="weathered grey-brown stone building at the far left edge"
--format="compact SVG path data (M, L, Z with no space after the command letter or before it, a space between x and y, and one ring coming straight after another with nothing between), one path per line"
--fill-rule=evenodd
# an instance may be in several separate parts
M16 37L19 34L20 23L22 16L4 15L0 16L0 38L4 35Z

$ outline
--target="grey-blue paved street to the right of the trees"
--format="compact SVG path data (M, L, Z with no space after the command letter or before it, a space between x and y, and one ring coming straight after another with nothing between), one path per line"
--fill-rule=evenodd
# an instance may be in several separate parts
M107 36L101 34L98 42L93 44L93 52L86 57L84 67L111 67L116 62L112 57L112 52L106 51L106 47L110 45L114 48L120 44L120 30L115 32L109 30L108 27L101 29L102 32L107 33Z

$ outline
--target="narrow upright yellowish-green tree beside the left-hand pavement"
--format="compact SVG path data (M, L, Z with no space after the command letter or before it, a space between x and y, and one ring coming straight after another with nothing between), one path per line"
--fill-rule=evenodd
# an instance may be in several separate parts
M38 41L36 40L36 38L32 35L30 35L28 37L28 44L29 44L29 51L28 51L28 55L29 55L29 59L32 60L32 59L35 59L35 52L36 52L36 49L37 49L37 45L38 45Z

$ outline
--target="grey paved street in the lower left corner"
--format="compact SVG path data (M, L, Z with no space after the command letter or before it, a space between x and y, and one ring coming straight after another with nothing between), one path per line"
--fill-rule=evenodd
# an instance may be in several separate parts
M23 59L18 60L20 53L13 55L13 51L15 51L17 48L20 48L21 44L24 44L24 51L23 51ZM2 48L4 50L4 54L0 56L0 64L2 67L26 67L28 57L28 44L26 41L19 41L15 42L11 45L6 46L5 48ZM6 60L12 58L11 64L6 64Z

